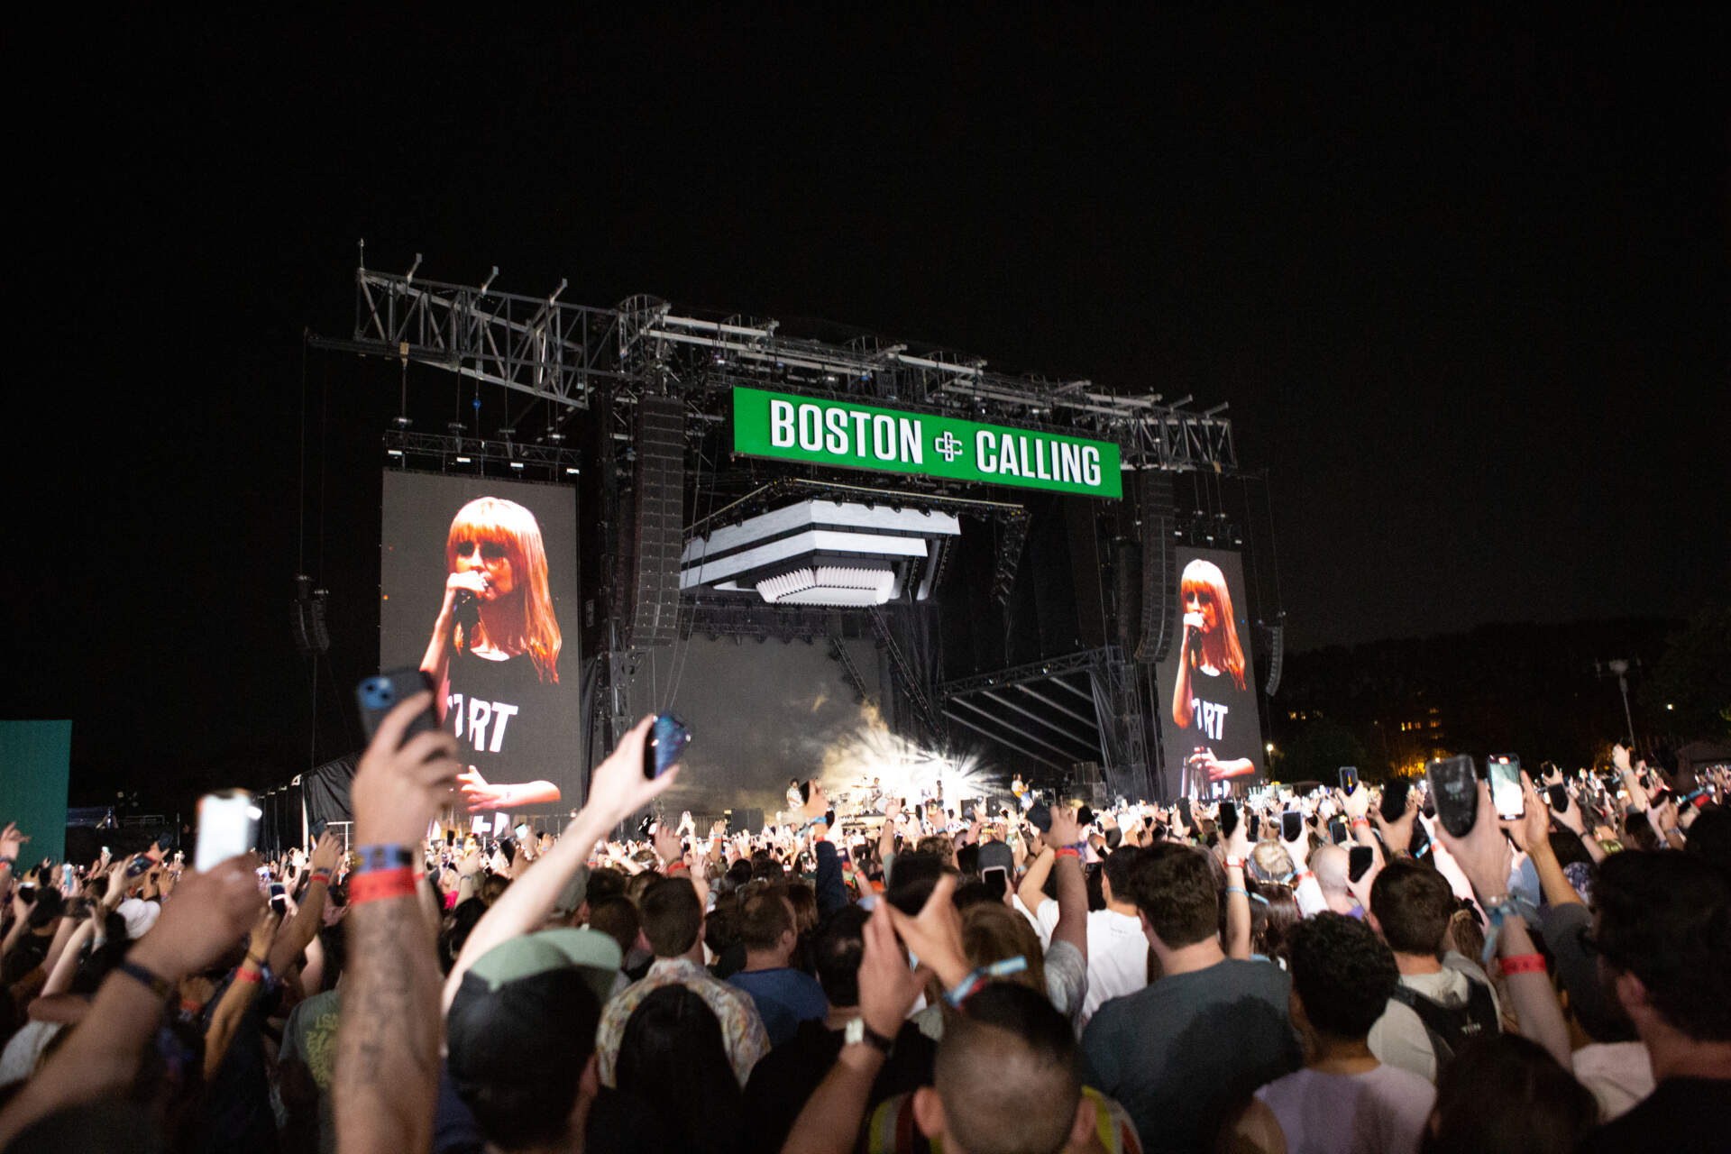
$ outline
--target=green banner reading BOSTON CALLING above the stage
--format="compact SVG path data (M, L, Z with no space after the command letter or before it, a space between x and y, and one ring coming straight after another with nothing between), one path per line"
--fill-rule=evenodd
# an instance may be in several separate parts
M1123 497L1118 446L850 401L734 389L734 452L1084 497Z

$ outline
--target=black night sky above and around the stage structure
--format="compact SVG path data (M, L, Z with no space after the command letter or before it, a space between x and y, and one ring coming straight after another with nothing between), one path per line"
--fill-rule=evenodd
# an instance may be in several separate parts
M325 708L376 661L396 369L301 346L358 237L1231 401L1298 649L1724 593L1724 16L981 12L68 28L14 69L7 713L74 718L74 801L305 766L303 507Z

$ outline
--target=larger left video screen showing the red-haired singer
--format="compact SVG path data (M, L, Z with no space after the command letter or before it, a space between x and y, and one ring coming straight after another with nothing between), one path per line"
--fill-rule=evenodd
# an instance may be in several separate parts
M476 813L582 805L576 490L388 471L379 668L421 668Z

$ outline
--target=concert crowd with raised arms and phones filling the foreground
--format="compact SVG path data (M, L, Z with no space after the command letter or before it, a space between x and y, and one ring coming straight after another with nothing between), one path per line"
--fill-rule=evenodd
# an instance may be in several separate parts
M615 839L429 837L379 727L353 849L28 863L0 830L19 1151L1703 1151L1731 1100L1722 772L1227 805L886 799ZM28 832L28 830L26 830Z

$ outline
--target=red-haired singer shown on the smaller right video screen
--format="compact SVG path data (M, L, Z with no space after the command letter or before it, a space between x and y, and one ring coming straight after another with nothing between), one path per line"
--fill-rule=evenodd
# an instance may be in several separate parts
M1191 753L1184 761L1189 791L1257 772L1250 758L1217 756L1220 749L1241 747L1255 732L1257 702L1245 687L1245 651L1238 644L1238 618L1220 567L1200 557L1184 566L1179 606L1184 609L1184 645L1172 690L1172 721L1189 739Z

